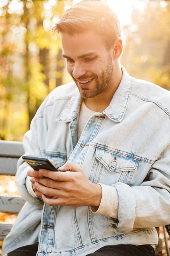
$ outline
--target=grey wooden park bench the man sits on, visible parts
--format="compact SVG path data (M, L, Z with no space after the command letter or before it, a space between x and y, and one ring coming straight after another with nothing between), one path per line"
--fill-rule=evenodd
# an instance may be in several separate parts
M23 143L0 141L0 175L15 175L17 160L24 154ZM21 197L0 196L0 212L18 213L25 204ZM12 225L0 223L0 241L10 232ZM167 256L170 256L166 229L163 227ZM161 255L162 239L156 248L156 256Z

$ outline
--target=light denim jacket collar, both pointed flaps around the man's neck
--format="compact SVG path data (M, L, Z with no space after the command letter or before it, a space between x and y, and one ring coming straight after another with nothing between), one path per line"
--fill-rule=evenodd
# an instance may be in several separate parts
M108 108L106 108L103 113L108 116L109 119L113 120L114 122L121 122L123 116L125 114L127 108L127 102L130 95L130 76L122 67L122 80L117 88ZM79 110L81 106L82 98L80 96L79 91L74 94L68 105L63 109L60 116L56 119L58 122L71 122L79 115Z

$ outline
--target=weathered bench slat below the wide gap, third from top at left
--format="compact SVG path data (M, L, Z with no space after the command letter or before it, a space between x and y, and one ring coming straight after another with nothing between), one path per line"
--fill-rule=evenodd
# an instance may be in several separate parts
M0 212L18 213L25 202L21 197L0 196Z

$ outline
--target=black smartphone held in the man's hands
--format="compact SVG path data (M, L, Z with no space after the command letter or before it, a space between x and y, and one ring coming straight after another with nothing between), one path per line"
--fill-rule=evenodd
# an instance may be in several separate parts
M59 170L47 159L42 157L22 157L32 169L38 171L39 169L46 169L49 171L59 172Z

